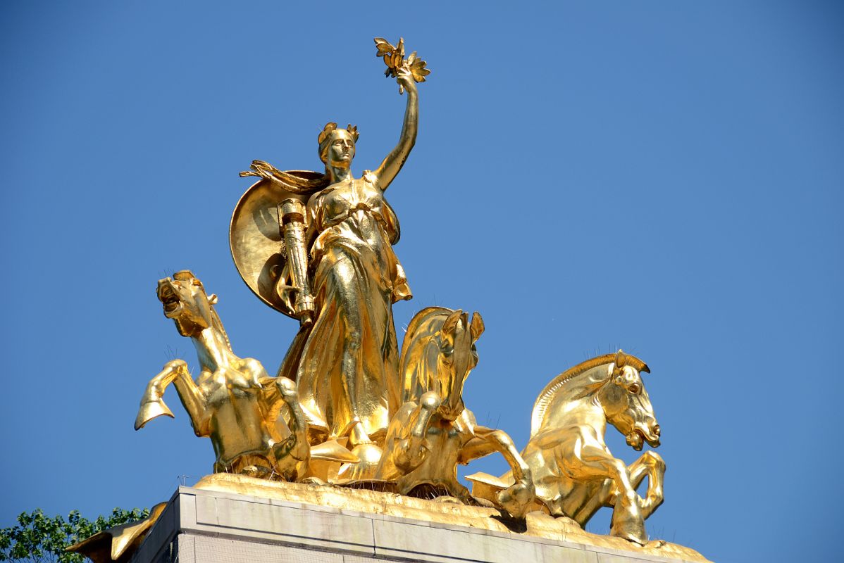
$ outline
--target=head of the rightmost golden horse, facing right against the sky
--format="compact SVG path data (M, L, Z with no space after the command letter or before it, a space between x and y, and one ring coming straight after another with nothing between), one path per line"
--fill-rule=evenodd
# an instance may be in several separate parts
M620 350L608 369L609 378L598 392L607 420L625 435L627 444L636 451L641 450L643 442L656 448L659 425L641 380L641 372L651 370L646 363Z

